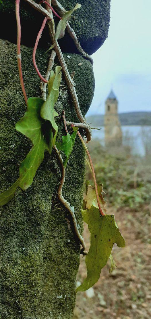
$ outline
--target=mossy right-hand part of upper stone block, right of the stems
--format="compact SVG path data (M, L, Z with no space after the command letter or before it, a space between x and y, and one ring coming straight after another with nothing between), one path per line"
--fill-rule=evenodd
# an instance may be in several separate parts
M81 0L82 7L74 12L70 25L75 30L78 39L89 54L94 53L104 43L108 35L110 22L111 0ZM60 0L66 10L70 10L77 3L76 0ZM60 41L61 45L67 45ZM64 44L63 44L64 42ZM64 49L64 47L63 47Z

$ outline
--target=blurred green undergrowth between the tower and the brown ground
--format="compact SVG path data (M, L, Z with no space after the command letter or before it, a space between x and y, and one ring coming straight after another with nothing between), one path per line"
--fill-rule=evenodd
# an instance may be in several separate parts
M88 144L97 183L103 183L105 200L116 207L139 210L151 201L151 163L123 148L105 150L98 140ZM110 153L111 152L111 153ZM92 180L89 167L86 179Z

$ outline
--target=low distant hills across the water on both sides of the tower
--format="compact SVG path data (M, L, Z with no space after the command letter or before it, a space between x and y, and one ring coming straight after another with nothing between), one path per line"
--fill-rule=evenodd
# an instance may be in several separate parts
M86 120L92 123L91 126L104 125L104 115L101 114L86 116ZM151 112L120 113L119 120L121 125L151 125Z

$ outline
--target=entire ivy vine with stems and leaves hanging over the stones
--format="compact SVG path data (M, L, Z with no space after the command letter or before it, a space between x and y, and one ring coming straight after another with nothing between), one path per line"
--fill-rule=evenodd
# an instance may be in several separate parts
M40 164L44 159L44 152L47 150L50 154L52 149L56 152L58 157L60 166L61 166L61 181L58 187L57 195L61 203L66 207L66 209L70 212L74 227L75 233L78 236L82 249L81 253L86 255L86 266L87 266L87 278L84 279L84 282L81 286L79 286L76 291L84 291L89 289L92 285L94 285L99 279L101 269L107 263L107 260L110 258L111 260L111 269L116 267L115 262L111 256L111 250L114 243L117 243L118 246L124 247L125 241L122 235L119 232L119 228L115 222L114 215L105 214L105 201L103 198L103 185L97 185L95 172L92 164L92 160L89 154L89 151L86 147L86 144L79 132L79 127L83 128L85 131L85 135L87 137L87 142L91 139L91 128L85 121L78 102L73 76L71 77L65 60L63 58L61 49L57 40L60 37L64 36L64 31L67 28L68 33L73 38L75 45L85 58L89 59L91 63L93 63L92 58L83 51L81 45L76 37L76 33L69 25L69 19L71 18L71 14L81 7L81 4L76 4L75 8L70 11L66 11L61 4L57 0L40 1L40 4L36 4L33 0L25 0L32 7L38 11L40 11L44 16L44 21L38 33L36 43L33 50L33 64L35 70L37 71L40 77L40 89L42 98L30 97L27 99L25 86L22 76L22 67L21 67L21 50L20 50L20 40L21 40L21 25L20 25L20 16L19 16L19 4L20 0L16 0L16 20L17 20L17 28L18 28L18 38L17 38L17 60L18 60L18 70L19 70L19 78L20 84L22 88L22 92L24 95L25 103L27 105L27 110L25 115L19 122L16 123L16 130L18 130L21 134L28 137L32 142L32 148L30 152L27 154L26 158L22 161L19 167L19 178L18 180L6 191L4 191L0 195L0 206L8 203L15 195L15 191L17 187L21 189L27 189L33 182L33 178L36 174L36 171ZM41 4L46 5L46 9L44 9ZM55 10L54 10L55 8ZM58 13L61 15L59 15ZM60 19L56 32L54 28L54 19L53 13ZM46 77L44 78L40 71L38 70L36 64L36 49L38 46L38 42L40 40L41 33L46 25L49 26L49 34L52 41L51 56L48 63L48 68L46 72ZM50 50L49 49L49 50ZM57 54L60 65L56 66L55 72L52 70L54 65L54 58ZM66 135L62 136L62 142L56 142L58 126L55 122L55 117L58 116L58 113L54 109L54 105L59 96L59 87L61 82L61 70L64 73L68 89L70 91L74 107L76 110L77 117L79 119L79 123L66 122L65 112L62 113L62 119L64 121L64 126L66 130ZM46 99L46 86L48 85L48 96ZM70 135L68 133L67 126L71 126L73 128L73 133ZM68 201L62 196L62 188L65 182L65 174L66 167L68 165L69 156L73 150L76 136L80 138L82 145L86 151L89 160L89 166L92 172L94 187L90 185L90 181L86 181L86 197L83 200L83 209L82 215L84 221L88 224L90 234L91 234L91 245L89 249L89 253L86 251L86 246L82 235L80 234L76 222L76 216L74 207L71 207ZM66 155L66 159L63 161L60 151L64 152ZM102 206L102 207L101 207Z

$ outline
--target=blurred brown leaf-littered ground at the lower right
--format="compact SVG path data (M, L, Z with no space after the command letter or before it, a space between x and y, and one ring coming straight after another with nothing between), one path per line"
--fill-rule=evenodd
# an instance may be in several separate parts
M74 319L151 318L150 208L140 212L128 209L113 212L109 209L108 213L114 213L126 247L115 246L112 250L117 269L110 275L110 263L107 263L93 287L94 297L87 297L85 292L77 293ZM86 225L84 238L88 245ZM77 280L82 282L86 274L84 258L81 257Z

